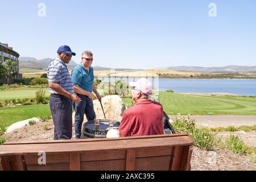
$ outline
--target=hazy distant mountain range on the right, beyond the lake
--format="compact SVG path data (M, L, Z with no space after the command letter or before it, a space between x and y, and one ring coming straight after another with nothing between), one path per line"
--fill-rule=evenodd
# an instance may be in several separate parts
M236 72L256 72L256 66L238 66L228 65L226 67L166 67L159 68L163 70L185 71L185 72L200 72L200 73L236 73Z

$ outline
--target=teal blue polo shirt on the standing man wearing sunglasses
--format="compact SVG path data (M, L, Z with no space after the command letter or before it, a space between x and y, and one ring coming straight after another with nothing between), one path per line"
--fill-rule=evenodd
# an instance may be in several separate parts
M73 84L79 85L80 88L92 92L93 91L93 68L90 67L89 72L80 63L71 72Z

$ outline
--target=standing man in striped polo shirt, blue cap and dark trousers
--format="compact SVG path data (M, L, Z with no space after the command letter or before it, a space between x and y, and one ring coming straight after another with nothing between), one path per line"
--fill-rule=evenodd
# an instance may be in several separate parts
M54 139L72 138L72 101L80 102L81 99L75 95L73 82L69 75L67 65L72 55L68 46L61 46L57 50L57 58L53 60L47 69L49 91L51 97L49 106L54 123Z

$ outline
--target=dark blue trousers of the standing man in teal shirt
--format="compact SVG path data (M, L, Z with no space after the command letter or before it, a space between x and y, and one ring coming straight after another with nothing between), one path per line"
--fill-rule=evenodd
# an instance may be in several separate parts
M81 102L74 103L75 110L75 133L76 139L81 138L82 122L84 121L84 114L86 115L87 121L93 121L96 117L93 109L93 100L88 96L83 96L77 93L77 96L81 98Z

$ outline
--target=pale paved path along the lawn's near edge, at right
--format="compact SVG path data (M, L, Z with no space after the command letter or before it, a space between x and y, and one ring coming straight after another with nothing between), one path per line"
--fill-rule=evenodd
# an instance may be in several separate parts
M169 116L170 119L174 118ZM192 115L198 126L228 127L228 126L252 126L256 125L256 115Z

